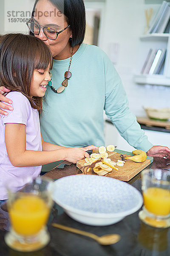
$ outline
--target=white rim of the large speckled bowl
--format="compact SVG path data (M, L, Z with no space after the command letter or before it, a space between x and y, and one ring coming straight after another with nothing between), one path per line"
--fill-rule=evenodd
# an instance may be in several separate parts
M69 176L77 176L77 175L69 175ZM69 177L69 176L66 176L66 177ZM84 175L84 176L102 177L102 176L97 176L97 175ZM64 179L66 177L59 178L58 180ZM114 178L111 178L111 177L105 177L105 178L116 180L118 182L121 182L121 183L123 182L124 183L124 181L122 181L122 180L117 180L117 179L114 179ZM55 180L54 183L57 183L58 180ZM80 209L76 209L74 207L71 207L68 204L64 204L59 200L56 200L56 199L54 200L53 195L52 195L52 198L57 204L59 204L59 206L64 208L66 211L71 211L71 212L77 213L79 215L85 215L85 216L94 217L94 218L117 218L117 217L120 217L120 216L127 216L127 215L130 215L130 214L136 212L140 207L142 207L142 204L143 204L142 194L139 192L139 190L136 189L135 187L133 187L132 185L128 184L128 183L126 183L126 184L128 186L132 187L132 189L134 189L136 191L136 193L139 195L139 201L138 201L138 204L136 205L136 207L133 207L132 209L129 209L129 210L124 211L124 212L119 212L119 213L96 213L96 212L89 212L89 211L85 211L85 210L80 210Z

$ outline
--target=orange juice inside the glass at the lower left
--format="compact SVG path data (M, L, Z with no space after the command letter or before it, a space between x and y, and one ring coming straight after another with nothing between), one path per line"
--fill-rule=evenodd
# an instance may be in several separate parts
M23 195L9 209L10 220L16 233L31 236L46 224L49 207L37 195Z

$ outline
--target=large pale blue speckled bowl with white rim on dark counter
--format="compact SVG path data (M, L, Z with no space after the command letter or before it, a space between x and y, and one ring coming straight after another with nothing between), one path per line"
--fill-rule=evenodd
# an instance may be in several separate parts
M136 212L141 193L124 181L98 175L71 175L54 181L53 200L76 221L105 226Z

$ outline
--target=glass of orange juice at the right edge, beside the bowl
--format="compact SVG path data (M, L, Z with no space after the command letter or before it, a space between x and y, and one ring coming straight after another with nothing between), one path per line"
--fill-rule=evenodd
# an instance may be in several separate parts
M153 227L170 227L170 171L144 170L142 194L144 206L139 218Z

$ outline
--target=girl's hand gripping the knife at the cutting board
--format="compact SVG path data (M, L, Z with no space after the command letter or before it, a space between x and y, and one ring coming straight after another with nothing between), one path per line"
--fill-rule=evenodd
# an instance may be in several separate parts
M92 148L89 148L89 149L92 149ZM67 148L64 150L66 154L65 160L71 163L77 163L77 161L85 157L90 157L84 148Z

